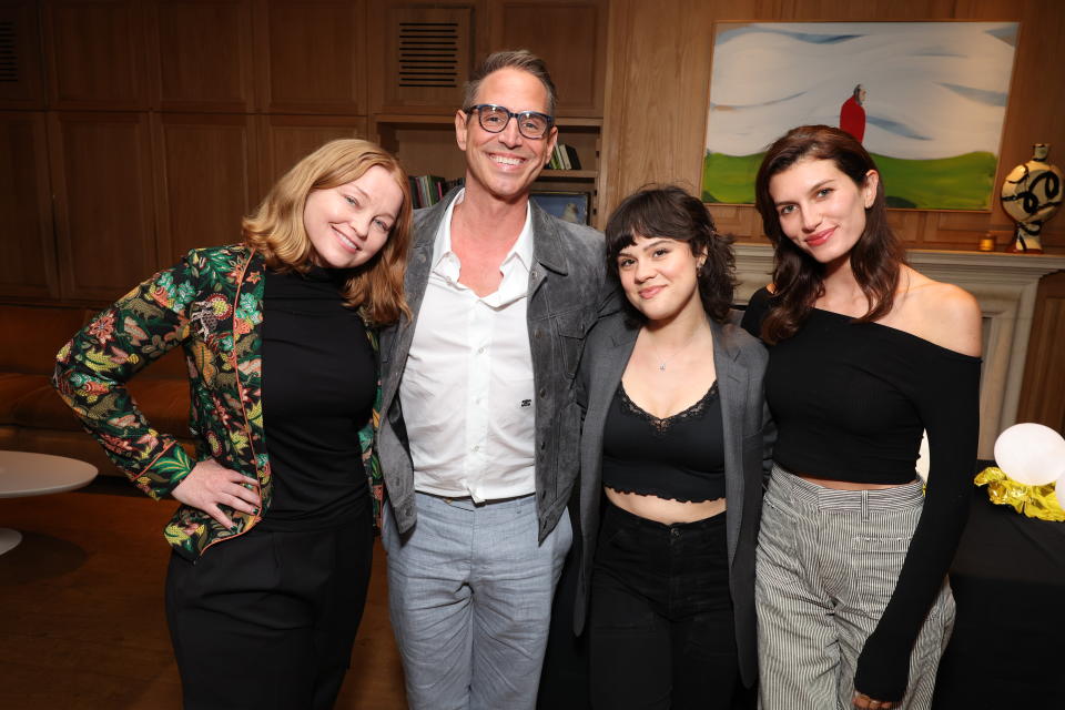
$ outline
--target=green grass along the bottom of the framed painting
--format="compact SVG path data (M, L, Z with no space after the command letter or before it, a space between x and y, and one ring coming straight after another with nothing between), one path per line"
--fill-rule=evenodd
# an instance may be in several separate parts
M752 204L754 175L764 153L702 161L703 202ZM888 189L888 206L919 210L987 210L995 180L995 156L973 152L935 160L901 160L873 154Z

